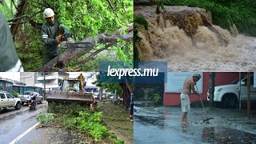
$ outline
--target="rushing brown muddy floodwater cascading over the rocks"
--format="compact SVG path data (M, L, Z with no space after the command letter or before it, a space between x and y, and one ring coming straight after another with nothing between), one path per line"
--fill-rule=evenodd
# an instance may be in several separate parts
M242 34L232 37L219 26L200 26L200 19L194 19L198 26L189 36L186 28L174 25L166 16L153 14L151 9L147 6L134 10L135 14L144 15L149 24L148 30L138 26L142 40L137 47L142 60L165 60L170 71L256 70L256 38Z

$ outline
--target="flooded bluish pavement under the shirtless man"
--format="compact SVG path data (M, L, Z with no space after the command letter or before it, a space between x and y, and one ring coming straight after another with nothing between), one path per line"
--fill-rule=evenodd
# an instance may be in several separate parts
M179 106L134 106L134 143L255 143L256 118L246 110L206 108L209 123L200 107L191 107L189 124L181 126Z

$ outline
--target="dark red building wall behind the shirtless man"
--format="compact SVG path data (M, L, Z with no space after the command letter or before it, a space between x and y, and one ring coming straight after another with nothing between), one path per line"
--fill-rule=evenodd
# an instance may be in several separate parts
M242 73L241 75L245 75ZM239 78L239 73L230 72L216 72L215 73L215 86L221 86L230 84L235 79ZM207 100L207 91L209 90L210 73L203 73L203 87L202 87L202 101ZM190 102L198 102L200 99L198 95L191 94ZM180 93L164 93L163 94L163 106L178 106L181 103Z

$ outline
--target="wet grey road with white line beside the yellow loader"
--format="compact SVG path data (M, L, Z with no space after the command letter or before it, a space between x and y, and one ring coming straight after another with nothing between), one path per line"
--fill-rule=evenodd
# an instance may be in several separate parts
M36 110L22 106L20 110L0 110L0 144L6 143L82 143L84 138L70 130L54 127L35 127L38 114L45 114L47 102ZM34 126L34 127L33 127Z

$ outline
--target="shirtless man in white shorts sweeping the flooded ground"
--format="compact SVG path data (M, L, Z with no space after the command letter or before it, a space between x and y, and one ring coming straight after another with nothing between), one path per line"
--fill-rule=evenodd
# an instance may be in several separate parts
M201 96L195 89L194 85L196 85L196 82L201 78L200 74L194 74L193 77L191 78L186 78L184 85L183 85L183 90L181 94L181 105L182 105L182 125L187 124L187 113L190 111L190 94L191 90L193 91L194 94L198 94Z

